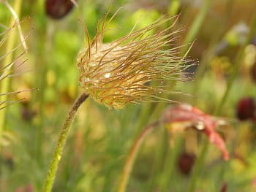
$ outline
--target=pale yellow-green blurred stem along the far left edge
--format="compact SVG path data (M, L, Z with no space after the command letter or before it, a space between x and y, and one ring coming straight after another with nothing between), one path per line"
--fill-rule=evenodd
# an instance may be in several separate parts
M20 16L21 5L22 5L22 0L15 0L13 9L15 10L16 15L18 17ZM16 22L15 18L12 18L12 20L10 21L10 27L12 27L15 24L15 22ZM4 58L2 67L7 66L8 64L12 63L12 59L13 59L12 49L15 47L16 35L17 35L17 31L15 31L15 30L10 31L10 35L7 38L7 47L6 47L7 55ZM5 78L4 80L1 80L0 93L9 92L9 88L10 88L10 78ZM1 96L1 101L6 101L6 100L7 100L7 95ZM1 139L2 132L4 130L6 110L7 110L7 108L0 110L0 139Z

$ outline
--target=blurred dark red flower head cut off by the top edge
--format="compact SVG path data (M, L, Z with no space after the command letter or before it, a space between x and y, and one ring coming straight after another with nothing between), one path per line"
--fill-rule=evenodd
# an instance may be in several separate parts
M46 0L45 11L50 18L64 18L74 7L71 0Z

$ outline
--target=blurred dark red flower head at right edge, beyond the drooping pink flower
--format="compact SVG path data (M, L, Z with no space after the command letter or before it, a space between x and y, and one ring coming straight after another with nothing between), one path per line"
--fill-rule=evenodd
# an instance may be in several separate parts
M236 108L236 117L239 120L248 120L255 118L255 101L247 97L238 101Z

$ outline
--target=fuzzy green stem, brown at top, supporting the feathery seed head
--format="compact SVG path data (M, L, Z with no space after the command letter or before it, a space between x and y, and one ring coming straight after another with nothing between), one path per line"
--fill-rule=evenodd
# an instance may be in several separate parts
M62 151L64 149L65 142L67 140L67 134L69 132L69 128L72 125L73 120L78 112L78 108L83 101L86 101L88 95L86 93L82 93L78 99L75 100L75 103L72 105L71 110L69 111L67 118L64 121L63 126L61 127L61 133L59 134L59 139L56 143L55 150L53 152L53 158L50 161L50 166L48 168L48 174L46 177L44 192L50 192L53 188L53 182L56 177L56 172L58 169L59 161L61 160Z

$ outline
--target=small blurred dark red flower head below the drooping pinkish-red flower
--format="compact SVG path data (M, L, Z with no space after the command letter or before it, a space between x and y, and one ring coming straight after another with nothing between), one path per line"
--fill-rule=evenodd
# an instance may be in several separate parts
M182 153L178 158L178 168L182 174L189 174L195 163L195 155Z

